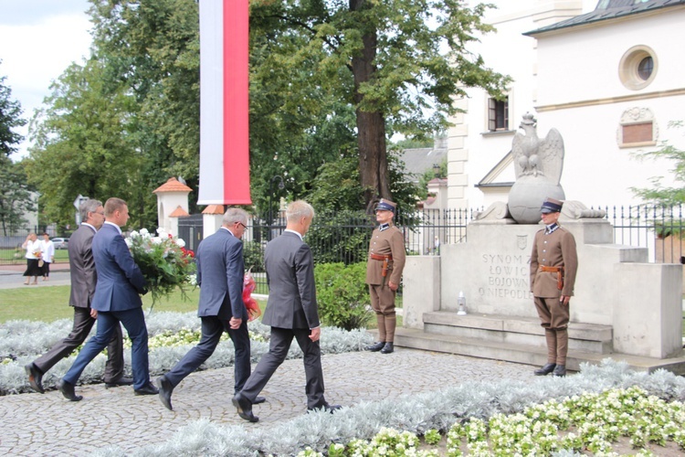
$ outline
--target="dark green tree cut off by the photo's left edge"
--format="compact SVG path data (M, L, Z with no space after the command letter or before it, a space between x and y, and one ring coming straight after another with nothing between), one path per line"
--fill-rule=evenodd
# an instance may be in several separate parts
M26 120L21 117L21 104L12 98L5 80L5 76L0 76L0 228L7 236L24 228L24 214L35 210L35 206L23 166L9 157L24 139L15 129L26 125Z

